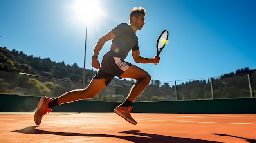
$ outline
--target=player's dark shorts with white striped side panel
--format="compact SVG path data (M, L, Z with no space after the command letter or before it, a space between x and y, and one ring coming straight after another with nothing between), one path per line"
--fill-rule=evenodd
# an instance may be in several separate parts
M114 76L119 77L130 66L132 66L131 63L125 62L124 60L121 60L118 57L103 56L101 67L98 73L94 76L94 79L105 78L106 79L105 84L108 85L111 82L111 80L114 78Z

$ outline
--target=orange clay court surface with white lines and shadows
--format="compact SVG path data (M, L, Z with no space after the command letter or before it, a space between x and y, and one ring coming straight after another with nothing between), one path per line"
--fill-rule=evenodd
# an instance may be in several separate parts
M256 143L256 114L0 112L0 143Z

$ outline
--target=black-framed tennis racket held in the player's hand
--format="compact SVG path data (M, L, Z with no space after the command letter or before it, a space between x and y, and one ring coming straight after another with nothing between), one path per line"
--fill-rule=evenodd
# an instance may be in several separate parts
M159 35L159 38L157 39L157 56L160 55L161 51L164 49L164 46L167 43L169 36L169 32L167 30L162 31L162 33ZM155 63L156 65L157 63Z

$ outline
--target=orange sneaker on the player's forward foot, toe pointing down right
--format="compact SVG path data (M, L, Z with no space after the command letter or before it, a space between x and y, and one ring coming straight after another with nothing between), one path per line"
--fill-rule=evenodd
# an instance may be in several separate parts
M114 109L114 112L121 116L122 118L124 118L126 121L128 121L129 123L132 123L134 125L137 124L137 122L132 118L130 112L131 112L131 109L133 107L132 106L129 106L129 107L122 107L122 105L120 104L119 106L117 106L115 109Z

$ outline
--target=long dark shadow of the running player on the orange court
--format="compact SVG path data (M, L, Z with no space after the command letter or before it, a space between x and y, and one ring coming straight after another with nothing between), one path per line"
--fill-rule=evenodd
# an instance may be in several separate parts
M200 140L200 139L178 138L178 137L163 136L163 135L158 135L158 134L147 134L147 133L141 133L138 130L119 132L122 134L133 134L136 136L117 136L117 135L110 135L110 134L52 132L52 131L44 131L44 130L36 129L37 127L39 127L39 126L26 127L25 129L15 130L12 132L18 132L18 133L23 133L23 134L54 134L54 135L59 135L59 136L113 137L113 138L124 139L127 141L132 141L135 143L172 143L172 142L175 142L175 143L220 143L220 142Z

